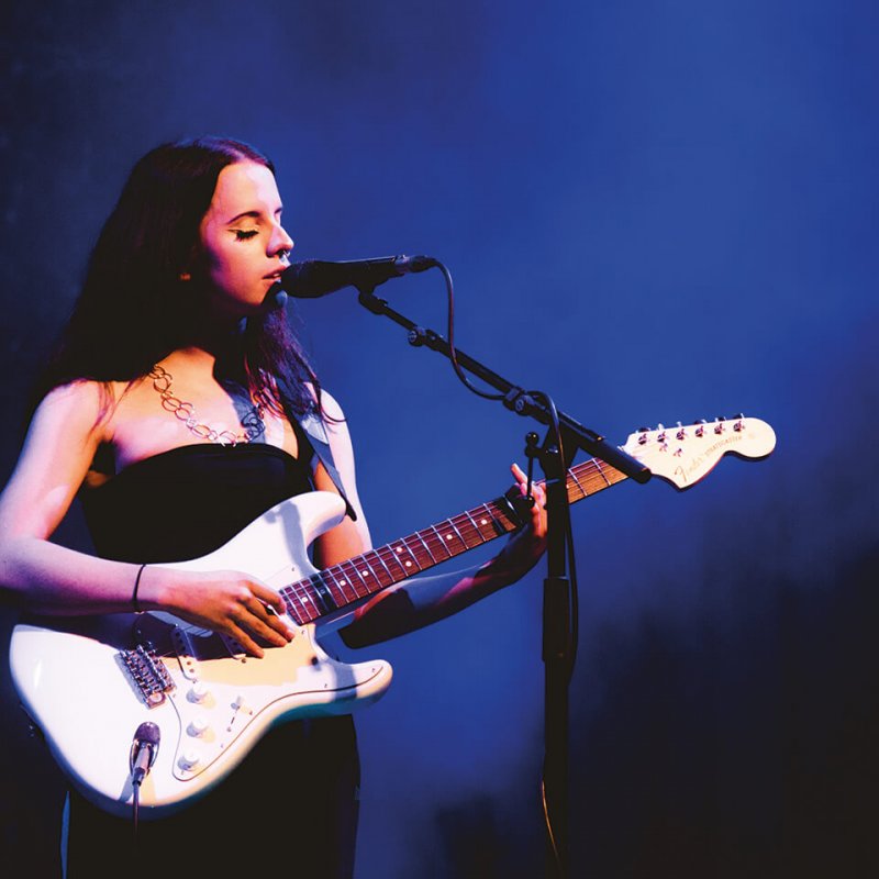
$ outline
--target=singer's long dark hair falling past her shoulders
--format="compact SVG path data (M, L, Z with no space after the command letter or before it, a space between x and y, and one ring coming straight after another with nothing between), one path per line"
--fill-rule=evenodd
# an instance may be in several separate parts
M258 149L226 137L163 144L137 162L91 253L70 320L37 379L34 404L77 379L105 387L133 381L191 344L203 319L203 290L181 275L197 253L199 225L220 173L237 162L275 173ZM318 394L320 385L282 309L249 318L237 345L260 399L279 404L289 418L315 409L308 383Z

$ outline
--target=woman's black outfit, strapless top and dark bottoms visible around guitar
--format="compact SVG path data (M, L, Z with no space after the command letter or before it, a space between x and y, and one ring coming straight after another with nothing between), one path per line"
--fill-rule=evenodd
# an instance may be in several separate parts
M270 507L312 490L312 453L307 442L300 448L305 460L266 444L201 444L138 461L84 492L96 550L152 564L212 552ZM136 849L131 821L71 791L67 876L351 877L358 785L349 716L287 723L211 793L142 821Z

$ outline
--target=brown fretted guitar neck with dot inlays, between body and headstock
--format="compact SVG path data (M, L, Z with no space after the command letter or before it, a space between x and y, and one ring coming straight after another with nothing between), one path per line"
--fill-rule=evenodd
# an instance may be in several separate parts
M581 501L627 477L598 458L571 467L568 502ZM482 546L519 527L505 497L466 510L378 549L324 568L280 590L288 613L299 625L315 622L399 583L415 574Z

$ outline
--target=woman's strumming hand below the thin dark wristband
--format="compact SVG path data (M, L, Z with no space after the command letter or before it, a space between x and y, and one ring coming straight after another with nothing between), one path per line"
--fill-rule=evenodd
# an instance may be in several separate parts
M192 572L147 565L141 575L138 604L227 635L251 656L262 657L263 645L283 647L293 639L285 622L283 599L241 571Z

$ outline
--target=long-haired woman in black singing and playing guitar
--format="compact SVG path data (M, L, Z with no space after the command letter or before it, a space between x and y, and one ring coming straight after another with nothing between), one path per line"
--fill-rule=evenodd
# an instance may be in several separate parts
M0 497L0 582L24 610L164 610L260 657L293 636L275 590L243 571L182 572L163 563L201 557L312 489L341 493L347 509L316 539L315 563L369 548L344 415L282 311L266 304L292 246L274 167L252 146L169 144L134 167ZM524 493L524 475L513 472ZM48 542L78 492L97 557ZM412 631L521 577L545 542L538 487L534 496L527 527L497 558L380 593L358 609L346 643ZM291 749L309 758L291 766L280 756ZM166 876L268 864L349 876L356 788L348 717L287 724L215 792L142 823L138 864ZM309 795L269 808L278 791ZM73 794L68 876L119 875L127 865L130 827Z

